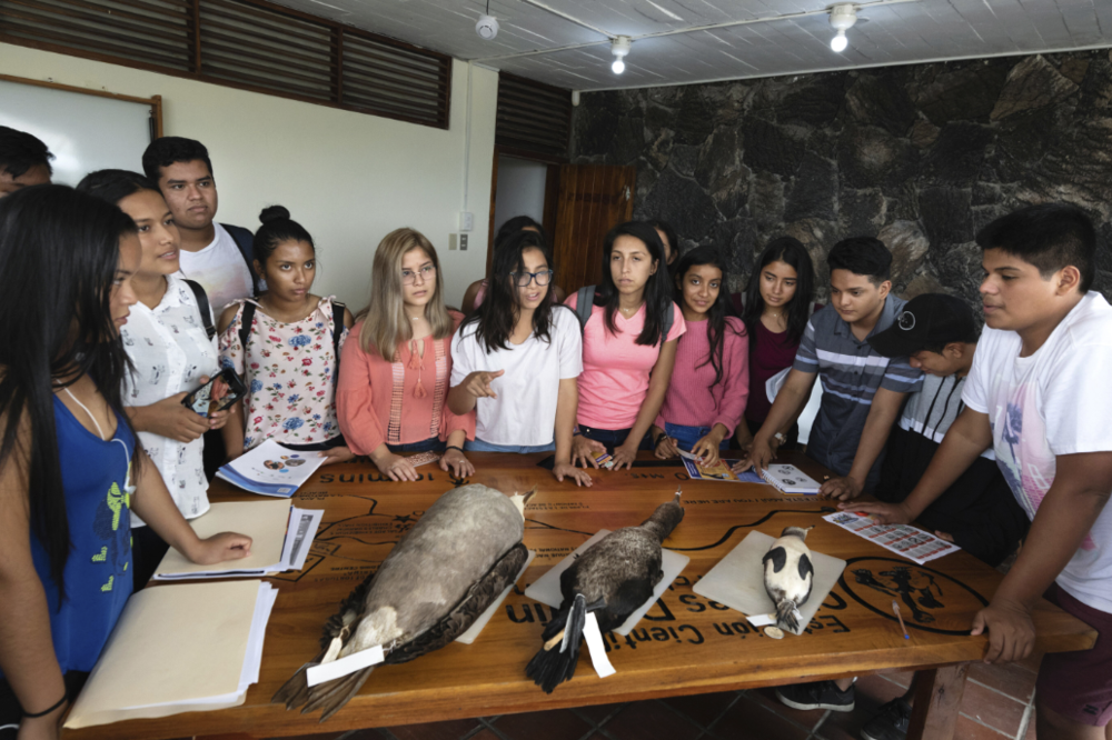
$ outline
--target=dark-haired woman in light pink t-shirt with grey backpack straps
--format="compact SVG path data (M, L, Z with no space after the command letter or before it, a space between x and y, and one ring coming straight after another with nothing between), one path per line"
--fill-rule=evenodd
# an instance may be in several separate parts
M614 469L632 468L661 411L684 333L665 264L661 237L647 223L629 221L606 234L603 279L583 328L574 464L597 468L596 458L613 448ZM576 293L567 306L578 300Z

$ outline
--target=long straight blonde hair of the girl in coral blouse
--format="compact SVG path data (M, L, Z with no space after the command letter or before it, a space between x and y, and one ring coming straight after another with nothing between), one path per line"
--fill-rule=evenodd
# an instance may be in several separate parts
M415 249L424 250L436 268L436 288L425 304L425 319L433 328L433 338L444 339L455 329L444 306L444 278L436 249L419 231L396 229L386 234L375 250L375 263L370 270L370 303L358 316L363 319L359 347L364 352L378 352L387 362L394 362L399 343L413 339L413 327L404 309L401 260Z

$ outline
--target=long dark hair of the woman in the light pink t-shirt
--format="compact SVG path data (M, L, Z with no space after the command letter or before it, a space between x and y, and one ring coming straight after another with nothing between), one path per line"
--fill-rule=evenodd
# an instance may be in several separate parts
M603 244L603 279L598 283L598 290L595 291L595 306L602 306L606 309L604 314L606 330L616 334L618 329L614 323L614 313L618 310L618 301L622 297L617 286L614 284L614 276L610 274L610 253L614 251L614 242L617 241L618 237L633 237L641 241L648 249L649 257L656 262L656 272L651 274L648 282L645 283L645 328L642 329L636 343L649 347L657 342L663 344L668 339L661 336L664 318L668 311L675 310L675 303L672 301L672 281L664 259L664 243L661 241L661 236L656 233L656 229L644 221L619 223L606 234L606 241Z

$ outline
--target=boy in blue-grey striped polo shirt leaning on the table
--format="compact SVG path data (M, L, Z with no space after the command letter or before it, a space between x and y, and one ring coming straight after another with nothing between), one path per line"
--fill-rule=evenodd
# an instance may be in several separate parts
M768 466L782 441L776 431L798 416L821 377L823 397L807 457L837 473L820 494L848 500L876 487L888 432L906 394L922 386L923 373L907 358L882 357L867 341L892 326L906 303L890 294L892 252L878 239L855 237L834 244L826 261L834 310L811 317L747 462L759 470Z

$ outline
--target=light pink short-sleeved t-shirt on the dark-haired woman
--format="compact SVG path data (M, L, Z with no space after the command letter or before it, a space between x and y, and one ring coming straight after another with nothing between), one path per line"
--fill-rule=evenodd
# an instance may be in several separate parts
M578 293L564 301L573 310ZM686 331L684 314L673 304L672 330L667 341ZM606 330L605 309L590 308L590 319L583 332L583 373L579 376L579 409L576 421L598 429L628 429L637 421L637 412L648 394L648 376L661 356L661 344L637 344L645 328L645 307L629 319L614 312L618 332Z

